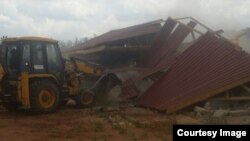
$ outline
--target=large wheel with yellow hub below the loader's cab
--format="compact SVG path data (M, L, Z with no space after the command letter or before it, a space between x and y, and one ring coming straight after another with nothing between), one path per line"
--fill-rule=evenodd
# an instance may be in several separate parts
M35 113L49 113L59 105L58 87L49 80L38 80L30 84L30 106Z

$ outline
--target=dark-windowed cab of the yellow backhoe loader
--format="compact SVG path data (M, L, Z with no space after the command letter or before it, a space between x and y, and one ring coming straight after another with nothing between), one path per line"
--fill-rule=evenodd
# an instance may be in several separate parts
M41 37L6 38L2 41L1 60L10 79L21 72L53 74L63 79L64 63L56 40Z

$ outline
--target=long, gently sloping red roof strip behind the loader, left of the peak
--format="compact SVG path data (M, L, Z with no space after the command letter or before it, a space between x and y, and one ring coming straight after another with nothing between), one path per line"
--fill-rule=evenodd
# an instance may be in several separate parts
M162 28L161 22L163 22L163 20L156 20L156 21L152 21L152 22L148 22L148 23L144 23L140 25L135 25L135 26L127 27L127 28L112 30L100 36L97 36L93 39L90 39L86 41L85 43L79 45L78 47L65 49L63 50L63 52L74 52L77 50L94 47L94 46L108 43L108 42L138 37L138 36L147 35L151 33L157 33Z

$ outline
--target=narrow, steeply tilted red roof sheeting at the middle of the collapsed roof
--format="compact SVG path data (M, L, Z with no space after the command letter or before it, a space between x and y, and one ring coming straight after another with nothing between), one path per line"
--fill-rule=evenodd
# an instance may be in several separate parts
M187 26L194 28L196 23L190 21ZM146 67L161 67L172 62L177 48L190 32L190 29L186 26L178 25L175 20L168 18L159 37L152 46L152 54L146 59Z

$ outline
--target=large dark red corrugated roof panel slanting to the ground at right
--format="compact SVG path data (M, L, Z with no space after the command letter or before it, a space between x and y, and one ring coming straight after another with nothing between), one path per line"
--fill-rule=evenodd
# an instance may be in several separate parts
M139 105L174 112L250 81L250 55L207 33L176 58Z

